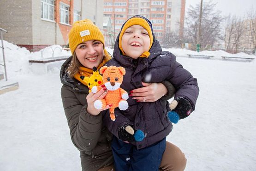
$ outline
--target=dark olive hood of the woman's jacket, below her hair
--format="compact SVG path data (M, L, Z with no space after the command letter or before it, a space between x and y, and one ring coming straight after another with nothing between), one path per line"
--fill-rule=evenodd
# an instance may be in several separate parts
M74 91L80 91L80 92L88 92L89 88L82 83L80 83L76 79L72 79L69 77L67 68L70 66L72 57L69 57L61 66L60 68L60 81L64 85L68 85L74 89ZM85 88L86 87L86 88Z

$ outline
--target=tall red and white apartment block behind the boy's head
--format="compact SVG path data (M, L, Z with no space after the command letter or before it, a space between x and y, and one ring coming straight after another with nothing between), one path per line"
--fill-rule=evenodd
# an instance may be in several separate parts
M165 33L183 35L185 0L104 0L104 16L111 18L115 38L122 24L134 15L148 18L159 40Z

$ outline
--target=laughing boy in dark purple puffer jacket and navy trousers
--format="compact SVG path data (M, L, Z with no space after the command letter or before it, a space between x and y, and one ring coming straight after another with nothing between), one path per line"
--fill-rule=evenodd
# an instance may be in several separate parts
M199 94L196 78L176 62L172 53L161 50L152 24L145 17L134 16L123 24L115 42L113 59L106 65L125 68L121 88L130 91L130 97L131 90L143 86L142 81L168 80L176 88L174 99L178 102L176 108L179 108L169 115L177 114L179 119L183 119L195 109ZM158 171L166 136L172 130L167 117L168 102L159 99L147 103L144 99L146 103L139 103L134 97L127 99L127 102L129 107L125 111L115 109L115 121L110 120L108 114L104 118L107 128L114 135L112 150L115 169Z

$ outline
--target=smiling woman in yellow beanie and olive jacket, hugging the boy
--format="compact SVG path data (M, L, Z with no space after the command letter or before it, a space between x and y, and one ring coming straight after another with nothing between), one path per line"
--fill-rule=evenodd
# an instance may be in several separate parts
M104 37L100 29L88 19L73 24L69 33L69 46L72 56L62 65L60 79L63 83L61 97L71 140L80 151L83 171L111 171L112 135L102 122L102 115L107 112L109 106L101 111L93 105L95 100L106 96L107 90L102 88L95 94L89 93L84 79L92 74L93 67L100 69L111 56L105 50ZM167 100L173 96L174 89L167 81L163 84L143 83L144 87L133 90L132 94L138 103L143 103L144 99L147 99L147 102L154 102L159 98ZM167 142L160 169L182 171L185 165L185 155L178 147Z

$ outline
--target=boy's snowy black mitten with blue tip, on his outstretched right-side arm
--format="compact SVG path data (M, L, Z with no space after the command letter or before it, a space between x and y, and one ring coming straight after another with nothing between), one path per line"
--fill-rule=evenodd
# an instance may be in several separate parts
M192 106L190 102L184 97L177 97L170 104L172 111L167 113L169 120L177 124L180 119L184 119L189 116L192 112Z

